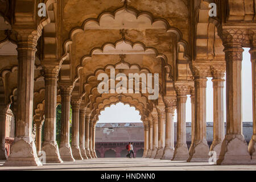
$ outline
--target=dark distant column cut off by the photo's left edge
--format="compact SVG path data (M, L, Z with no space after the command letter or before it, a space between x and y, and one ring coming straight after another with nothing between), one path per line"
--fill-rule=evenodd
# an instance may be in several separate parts
M0 160L6 160L5 155L5 125L6 125L6 106L0 106Z

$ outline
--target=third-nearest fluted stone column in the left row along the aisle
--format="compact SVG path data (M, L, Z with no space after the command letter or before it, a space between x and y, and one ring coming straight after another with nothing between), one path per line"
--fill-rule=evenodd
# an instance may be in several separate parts
M72 155L70 144L70 102L73 87L69 84L60 85L61 94L61 136L60 136L60 157L63 161L75 161Z

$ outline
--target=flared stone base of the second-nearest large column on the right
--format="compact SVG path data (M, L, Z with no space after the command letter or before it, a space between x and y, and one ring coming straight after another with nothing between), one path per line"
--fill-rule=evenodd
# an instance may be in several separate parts
M206 140L195 141L187 162L208 162L210 158L209 151L209 146Z

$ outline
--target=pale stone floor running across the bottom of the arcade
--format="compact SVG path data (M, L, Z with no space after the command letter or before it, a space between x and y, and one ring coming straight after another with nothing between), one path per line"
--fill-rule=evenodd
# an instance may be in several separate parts
M2 170L93 170L93 171L166 171L166 170L254 170L254 166L216 166L209 163L187 163L173 162L171 160L148 159L148 158L98 158L88 160L77 160L76 162L65 162L61 164L44 164L42 167L3 167L4 161L0 161Z

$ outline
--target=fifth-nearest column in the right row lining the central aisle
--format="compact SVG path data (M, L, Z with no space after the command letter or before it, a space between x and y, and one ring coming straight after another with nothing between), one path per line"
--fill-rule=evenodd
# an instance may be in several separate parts
M164 120L166 119L165 107L158 108L158 150L156 151L155 159L160 159L164 152Z

